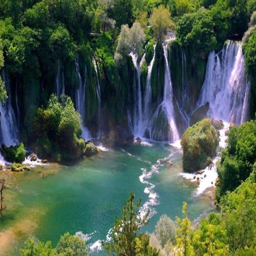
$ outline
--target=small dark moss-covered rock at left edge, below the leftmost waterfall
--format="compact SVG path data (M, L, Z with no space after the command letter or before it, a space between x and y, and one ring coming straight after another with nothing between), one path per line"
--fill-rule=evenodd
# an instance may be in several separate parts
M26 158L26 150L23 143L10 147L2 144L0 151L5 160L10 163L21 163Z

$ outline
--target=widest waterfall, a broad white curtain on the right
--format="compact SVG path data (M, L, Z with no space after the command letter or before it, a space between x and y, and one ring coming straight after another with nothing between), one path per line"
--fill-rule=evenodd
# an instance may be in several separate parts
M247 120L249 94L242 45L229 41L220 52L210 53L197 105L209 102L209 117L241 125Z

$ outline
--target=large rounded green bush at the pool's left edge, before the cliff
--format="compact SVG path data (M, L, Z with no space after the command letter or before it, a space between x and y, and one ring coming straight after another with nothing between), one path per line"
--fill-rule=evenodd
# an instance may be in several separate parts
M55 160L76 160L82 156L84 140L81 117L71 98L61 102L52 95L46 109L38 109L34 122L36 148L40 155Z

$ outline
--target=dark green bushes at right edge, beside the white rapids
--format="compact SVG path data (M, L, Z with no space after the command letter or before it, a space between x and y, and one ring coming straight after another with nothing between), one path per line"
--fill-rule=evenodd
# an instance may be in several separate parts
M229 131L228 147L221 154L217 165L218 193L233 191L249 177L256 160L256 121L233 126ZM217 199L220 195L217 193Z

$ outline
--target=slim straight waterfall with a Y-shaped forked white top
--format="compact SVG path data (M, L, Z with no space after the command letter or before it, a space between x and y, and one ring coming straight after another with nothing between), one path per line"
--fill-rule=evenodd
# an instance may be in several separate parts
M142 56L141 62L138 64L137 53L130 53L131 59L136 71L137 82L134 78L134 110L133 110L133 134L135 137L143 137L144 133L144 122L143 122L143 112L142 112L142 91L141 91L141 67L145 60L145 56Z

